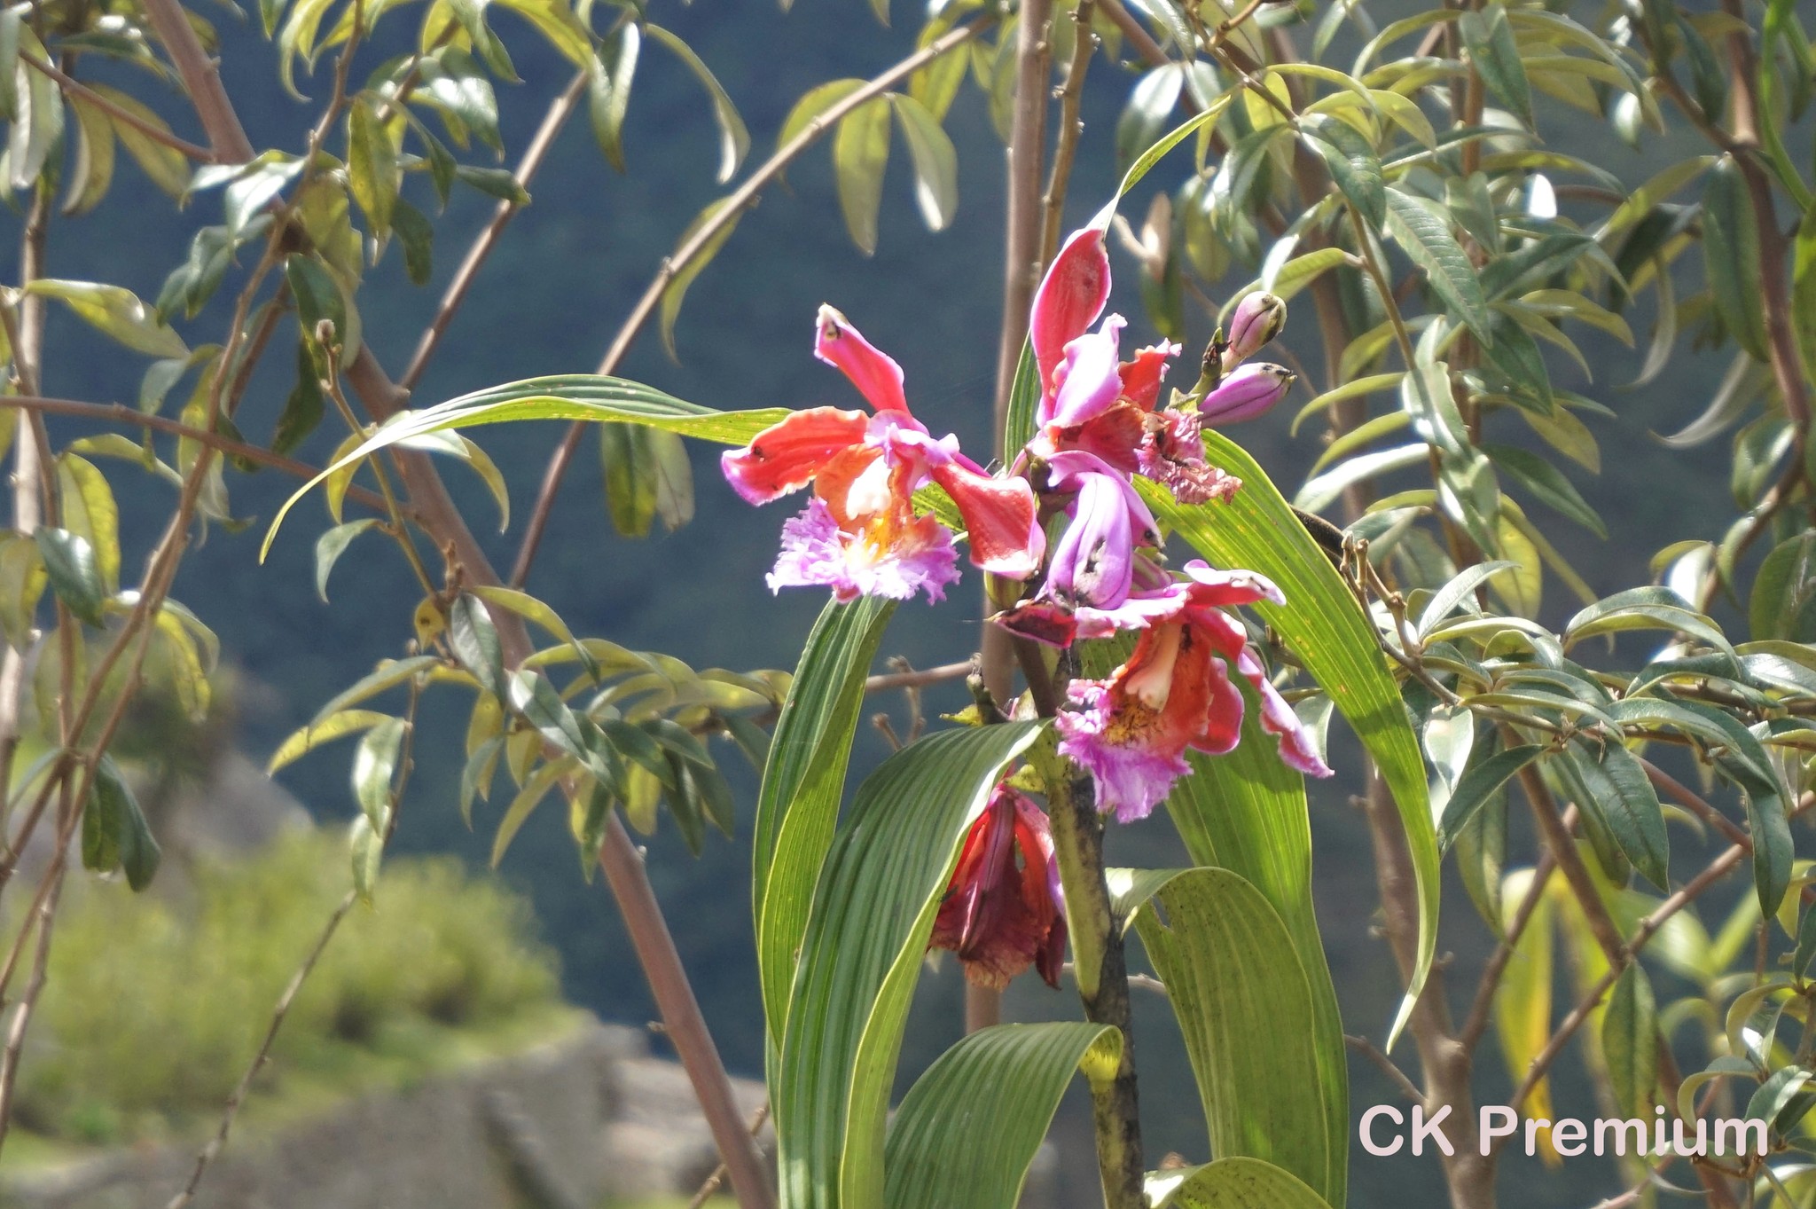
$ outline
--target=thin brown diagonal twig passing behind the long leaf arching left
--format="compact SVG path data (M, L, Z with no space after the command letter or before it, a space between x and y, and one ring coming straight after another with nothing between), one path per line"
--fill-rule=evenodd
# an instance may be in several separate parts
M652 314L656 314L656 307L661 303L663 294L668 290L668 283L674 281L676 274L694 263L694 260L712 245L714 238L737 221L750 203L755 202L757 194L763 192L772 180L781 176L783 169L786 169L803 151L817 142L821 134L837 125L839 118L852 113L870 98L886 93L926 64L932 64L941 54L964 45L995 22L995 15L984 15L935 38L883 74L872 78L863 87L852 89L848 96L841 98L834 105L828 105L826 111L808 122L799 134L777 147L775 154L765 160L743 185L726 194L719 209L714 211L714 214L703 221L699 229L681 243L681 247L663 258L663 263L656 269L656 276L650 280L648 289L643 290L643 298L639 298L630 309L623 327L617 329L610 347L605 350L599 369L594 372L610 374L617 370L619 361L623 361L625 354L630 352L630 345L637 338L637 332L641 332L643 325L650 321ZM521 586L523 581L528 579L530 565L536 561L536 550L543 541L543 530L548 528L548 516L554 510L556 492L561 488L561 479L567 477L567 468L574 461L574 450L579 448L579 437L587 425L581 421L568 425L567 434L561 437L561 445L558 445L556 452L548 457L548 468L543 472L543 483L536 494L536 506L530 508L530 519L523 528L523 543L518 546L518 561L510 568L510 583L514 586Z

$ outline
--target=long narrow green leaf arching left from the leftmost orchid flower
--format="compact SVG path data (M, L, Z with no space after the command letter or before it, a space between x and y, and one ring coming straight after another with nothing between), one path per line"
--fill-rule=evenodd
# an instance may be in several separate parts
M419 412L403 412L365 441L336 457L327 470L305 483L301 490L278 508L278 516L272 517L271 530L265 534L260 557L263 559L271 552L278 526L283 525L283 517L296 506L296 501L327 481L329 476L343 472L363 457L370 457L400 441L430 432L521 419L587 419L594 423L646 425L663 432L679 432L681 436L721 441L725 445L748 445L752 437L786 416L785 408L716 412L694 403L683 403L641 383L599 374L530 378L465 394Z

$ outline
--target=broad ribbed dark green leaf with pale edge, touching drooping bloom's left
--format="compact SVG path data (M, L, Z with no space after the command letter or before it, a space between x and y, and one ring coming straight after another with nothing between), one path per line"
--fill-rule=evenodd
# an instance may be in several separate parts
M783 1204L883 1204L890 1084L933 915L1002 766L1042 726L941 732L859 786L814 891L770 1084Z

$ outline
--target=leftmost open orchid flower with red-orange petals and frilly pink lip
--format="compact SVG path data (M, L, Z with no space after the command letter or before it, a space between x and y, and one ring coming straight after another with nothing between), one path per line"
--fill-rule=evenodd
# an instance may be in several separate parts
M806 510L783 526L770 590L830 586L841 601L859 595L939 601L957 583L952 534L917 516L913 494L939 483L964 517L972 563L1026 579L1044 552L1033 490L992 477L959 452L959 439L933 439L908 412L901 367L832 307L819 309L814 356L837 367L873 416L815 407L765 428L721 457L725 477L750 503L768 503L814 485Z

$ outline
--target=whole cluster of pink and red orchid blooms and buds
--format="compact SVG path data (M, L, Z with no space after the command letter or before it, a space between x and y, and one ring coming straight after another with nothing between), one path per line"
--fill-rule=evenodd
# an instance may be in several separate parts
M1286 396L1291 372L1249 363L1280 332L1286 305L1266 292L1242 298L1228 338L1219 332L1204 354L1197 385L1162 405L1179 345L1150 345L1124 361L1126 321L1110 314L1099 323L1108 300L1104 234L1086 227L1066 240L1035 294L1028 338L1041 385L1037 430L1002 476L966 457L957 437L933 439L908 410L901 367L821 307L814 354L844 372L872 414L794 412L725 454L726 479L750 503L814 488L806 510L783 526L768 585L828 586L839 601L943 599L959 579L953 537L913 503L933 483L957 505L975 566L1039 581L993 617L999 626L1057 648L1135 634L1133 652L1106 679L1071 681L1070 708L1053 722L1061 755L1091 775L1099 810L1120 822L1144 819L1189 773L1188 752L1229 752L1244 715L1233 675L1253 686L1280 757L1326 777L1329 768L1231 612L1280 604L1280 590L1255 572L1204 561L1179 575L1166 570L1159 525L1135 487L1140 476L1182 505L1240 490L1206 461L1202 427L1251 419ZM1064 526L1048 550L1048 521L1059 517ZM1053 984L1064 940L1048 819L1004 782L964 840L932 946L953 949L984 986L1030 966Z

